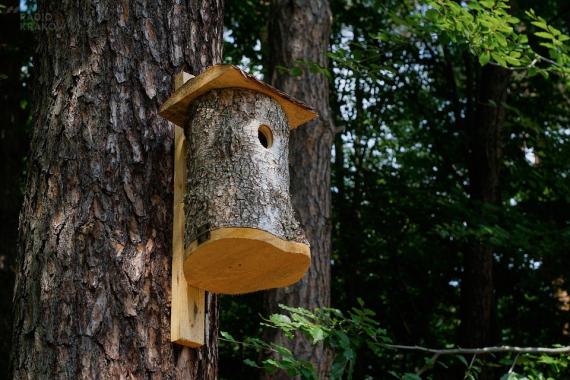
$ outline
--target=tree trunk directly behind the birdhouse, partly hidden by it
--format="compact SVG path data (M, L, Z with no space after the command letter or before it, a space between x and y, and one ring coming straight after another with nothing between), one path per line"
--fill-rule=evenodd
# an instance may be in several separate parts
M293 131L289 149L293 207L311 243L311 268L298 284L267 292L267 311L272 313L280 303L306 308L330 304L330 160L335 130L329 110L327 77L311 73L297 62L303 60L327 67L331 28L328 1L274 0L269 20L271 83L313 106L320 114L318 120ZM292 76L278 66L300 66L304 70L301 75ZM292 342L282 335L272 338L311 360L319 378L325 377L330 360L322 346L312 347L302 337ZM284 373L265 376L288 378Z

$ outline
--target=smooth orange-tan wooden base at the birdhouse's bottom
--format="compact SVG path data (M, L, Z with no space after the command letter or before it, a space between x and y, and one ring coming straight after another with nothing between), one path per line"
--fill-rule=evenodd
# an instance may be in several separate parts
M309 246L255 228L211 231L186 250L184 272L192 285L215 293L240 294L291 285L311 262Z

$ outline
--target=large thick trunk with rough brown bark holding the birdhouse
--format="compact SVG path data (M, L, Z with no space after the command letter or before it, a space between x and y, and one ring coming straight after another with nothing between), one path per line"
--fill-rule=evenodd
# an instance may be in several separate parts
M170 343L173 136L157 115L186 66L221 60L222 2L40 1L21 213L15 378L213 379Z

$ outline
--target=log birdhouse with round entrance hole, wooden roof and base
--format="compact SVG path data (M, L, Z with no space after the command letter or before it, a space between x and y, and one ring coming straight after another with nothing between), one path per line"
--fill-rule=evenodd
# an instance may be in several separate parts
M310 249L289 195L289 133L317 114L231 65L178 84L160 110L180 127L173 303L175 275L223 294L298 281Z

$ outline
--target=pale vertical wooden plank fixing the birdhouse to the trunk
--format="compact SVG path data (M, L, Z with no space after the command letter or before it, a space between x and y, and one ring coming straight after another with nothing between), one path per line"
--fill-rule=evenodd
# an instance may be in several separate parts
M174 88L193 78L180 72L174 77ZM184 190L186 184L186 138L184 129L174 130L174 217L172 229L172 301L170 340L188 347L204 344L206 322L205 291L189 286L184 276Z

